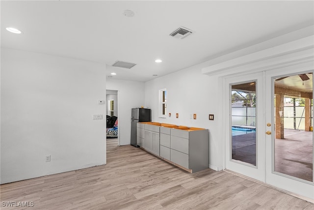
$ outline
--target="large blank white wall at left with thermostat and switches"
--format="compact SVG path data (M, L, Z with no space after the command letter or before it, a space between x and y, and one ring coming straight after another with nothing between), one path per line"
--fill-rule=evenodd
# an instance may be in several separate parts
M103 64L1 48L1 183L105 164L104 98Z

